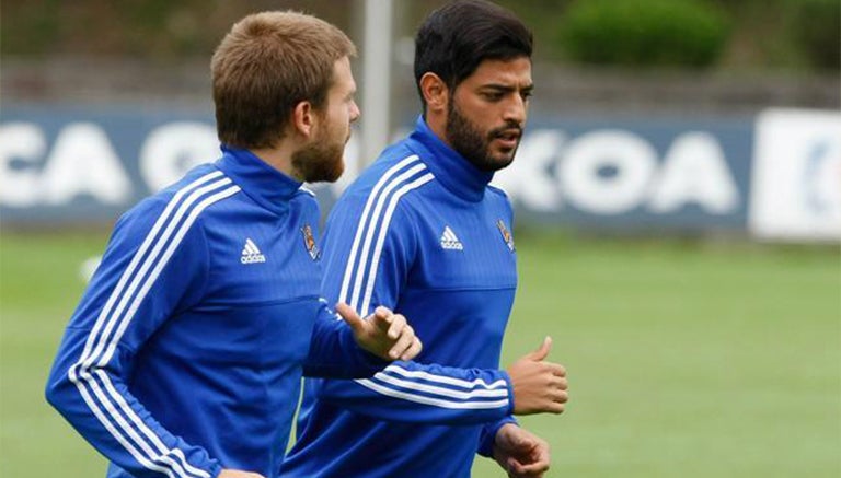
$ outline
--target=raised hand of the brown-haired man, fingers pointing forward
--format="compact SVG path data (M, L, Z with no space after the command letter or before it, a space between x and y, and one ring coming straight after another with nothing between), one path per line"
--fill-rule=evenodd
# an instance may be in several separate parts
M383 306L362 319L347 304L336 304L336 312L350 326L356 343L384 360L412 360L420 353L423 343L406 317Z

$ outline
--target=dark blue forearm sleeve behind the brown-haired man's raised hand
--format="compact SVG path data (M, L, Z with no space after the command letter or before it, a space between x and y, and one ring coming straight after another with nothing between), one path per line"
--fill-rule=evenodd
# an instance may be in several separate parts
M356 345L354 333L326 304L322 304L310 339L303 375L330 378L368 377L389 362Z

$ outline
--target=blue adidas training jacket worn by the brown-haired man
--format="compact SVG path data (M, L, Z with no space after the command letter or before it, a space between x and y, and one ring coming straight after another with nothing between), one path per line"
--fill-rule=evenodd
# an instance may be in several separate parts
M47 399L111 478L275 477L302 365L383 365L320 296L312 194L222 152L118 220L58 350Z

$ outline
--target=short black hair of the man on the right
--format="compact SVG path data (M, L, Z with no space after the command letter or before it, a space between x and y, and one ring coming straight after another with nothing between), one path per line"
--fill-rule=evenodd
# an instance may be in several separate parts
M497 4L459 0L443 5L426 18L415 36L418 93L424 73L437 74L452 91L484 60L531 58L532 44L531 31Z

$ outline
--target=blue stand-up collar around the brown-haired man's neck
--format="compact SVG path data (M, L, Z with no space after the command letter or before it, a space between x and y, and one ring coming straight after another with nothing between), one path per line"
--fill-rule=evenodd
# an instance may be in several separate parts
M289 207L289 200L301 185L296 179L277 171L249 150L222 144L222 158L216 165L242 188L260 206L276 213Z

